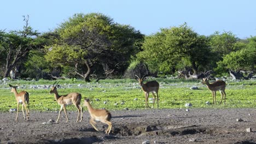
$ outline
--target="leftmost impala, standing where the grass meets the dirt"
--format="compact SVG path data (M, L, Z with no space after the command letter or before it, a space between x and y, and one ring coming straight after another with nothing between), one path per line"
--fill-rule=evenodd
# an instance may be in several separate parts
M17 116L16 116L16 121L18 119L18 113L19 113L19 104L21 103L22 104L22 112L23 112L23 116L24 116L24 119L26 119L27 121L30 119L30 110L29 110L29 106L28 106L28 103L29 103L29 94L28 92L26 91L21 91L20 93L17 92L17 87L18 86L12 86L9 84L9 86L11 87L11 92L14 93L15 95L15 98L17 100ZM25 113L24 113L24 109L23 107L25 107L25 110L26 110L26 116L27 118L25 118Z

